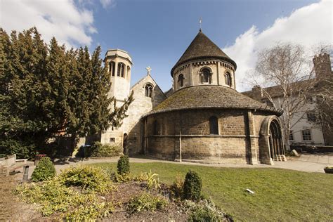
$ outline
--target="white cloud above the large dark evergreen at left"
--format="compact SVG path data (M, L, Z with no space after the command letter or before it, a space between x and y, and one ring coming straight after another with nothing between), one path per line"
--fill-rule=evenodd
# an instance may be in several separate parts
M72 0L0 0L0 26L8 32L37 27L44 40L53 36L67 46L90 45L93 13Z

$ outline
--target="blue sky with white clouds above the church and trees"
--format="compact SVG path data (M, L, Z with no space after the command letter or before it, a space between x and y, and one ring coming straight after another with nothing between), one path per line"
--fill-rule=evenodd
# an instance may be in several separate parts
M36 26L46 41L67 46L121 48L133 59L132 84L152 67L164 90L170 70L199 30L237 63L237 90L256 53L276 42L332 44L333 1L311 0L0 0L0 26Z

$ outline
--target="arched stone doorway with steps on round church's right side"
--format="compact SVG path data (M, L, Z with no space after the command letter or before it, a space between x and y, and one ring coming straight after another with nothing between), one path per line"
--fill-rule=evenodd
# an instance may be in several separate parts
M274 161L286 160L281 124L276 116L266 117L261 122L259 157L261 163L270 165L273 165Z

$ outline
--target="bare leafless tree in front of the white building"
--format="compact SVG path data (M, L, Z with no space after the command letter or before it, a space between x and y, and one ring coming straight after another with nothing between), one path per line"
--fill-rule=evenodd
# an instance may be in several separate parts
M313 93L317 79L303 46L276 44L259 52L255 68L255 85L276 109L282 109L282 131L289 150L289 134L309 109L308 96ZM261 84L259 84L261 82Z

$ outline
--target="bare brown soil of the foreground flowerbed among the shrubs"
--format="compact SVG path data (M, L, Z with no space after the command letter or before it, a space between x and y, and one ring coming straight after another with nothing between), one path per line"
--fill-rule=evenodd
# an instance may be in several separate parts
M15 176L0 178L0 221L51 221L54 219L41 216L36 204L20 202L13 194L13 189L18 183ZM169 190L163 184L161 189L152 189L150 193L166 197L166 200L169 200L168 206L153 212L141 211L130 214L126 211L126 203L131 197L143 192L147 192L144 182L117 183L117 190L105 196L107 202L115 205L115 211L108 218L103 218L103 221L187 221L188 215L185 210L181 204L169 199Z

